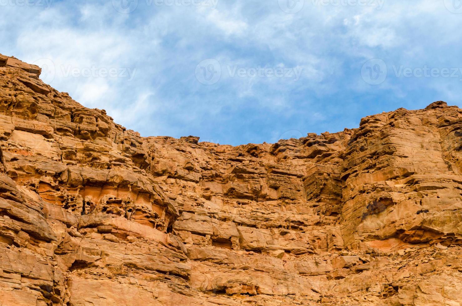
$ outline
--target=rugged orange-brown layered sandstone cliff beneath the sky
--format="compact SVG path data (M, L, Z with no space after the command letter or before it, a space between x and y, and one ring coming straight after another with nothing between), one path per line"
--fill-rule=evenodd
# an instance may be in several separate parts
M460 305L462 110L140 137L0 55L0 305Z

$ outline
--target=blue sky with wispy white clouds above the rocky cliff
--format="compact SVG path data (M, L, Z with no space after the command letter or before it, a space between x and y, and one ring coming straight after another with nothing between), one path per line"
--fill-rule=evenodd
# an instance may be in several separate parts
M460 0L0 0L0 53L143 136L239 145L461 105Z

